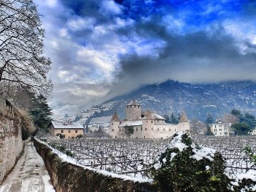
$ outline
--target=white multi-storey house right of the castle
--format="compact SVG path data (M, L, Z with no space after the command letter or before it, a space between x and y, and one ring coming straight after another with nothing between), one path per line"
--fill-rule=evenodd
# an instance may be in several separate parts
M230 127L231 123L225 123L223 120L218 120L215 123L213 123L210 127L210 131L215 136L230 136Z

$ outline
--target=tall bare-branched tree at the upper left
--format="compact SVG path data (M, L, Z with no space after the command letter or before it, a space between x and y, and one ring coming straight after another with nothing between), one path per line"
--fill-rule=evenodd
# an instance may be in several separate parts
M0 0L0 82L48 95L50 59L43 56L44 30L32 0Z

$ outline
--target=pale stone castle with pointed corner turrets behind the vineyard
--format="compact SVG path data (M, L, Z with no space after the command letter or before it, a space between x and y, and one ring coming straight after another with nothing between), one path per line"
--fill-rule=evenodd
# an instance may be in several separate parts
M112 138L125 138L125 129L132 127L132 138L166 138L176 132L189 130L189 122L185 112L182 112L178 124L167 124L164 117L147 110L142 112L142 106L132 100L125 107L125 119L120 121L117 112L114 112L110 121L110 136Z

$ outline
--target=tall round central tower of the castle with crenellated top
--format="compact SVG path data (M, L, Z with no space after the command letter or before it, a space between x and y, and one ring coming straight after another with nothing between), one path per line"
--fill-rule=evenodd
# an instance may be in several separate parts
M142 117L142 107L136 100L132 100L125 107L125 119L136 120Z

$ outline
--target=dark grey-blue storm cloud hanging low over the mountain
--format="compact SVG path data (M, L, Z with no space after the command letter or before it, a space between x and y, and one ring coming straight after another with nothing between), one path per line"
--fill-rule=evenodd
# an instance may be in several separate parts
M158 36L166 46L159 50L157 58L136 54L122 58L122 72L114 85L118 91L114 94L167 79L185 82L256 80L255 45L245 43L247 50L254 51L242 53L235 39L222 26L215 26L210 33L171 35L164 26L148 23L137 31Z

